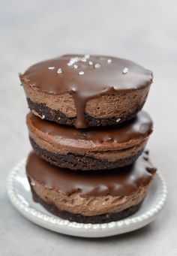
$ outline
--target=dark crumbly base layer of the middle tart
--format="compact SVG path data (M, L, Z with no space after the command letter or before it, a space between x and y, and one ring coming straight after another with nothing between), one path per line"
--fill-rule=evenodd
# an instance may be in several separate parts
M31 137L29 137L29 140L34 152L36 152L40 158L43 158L43 160L57 167L71 170L110 170L118 167L124 167L129 164L133 164L143 151L143 149L139 150L135 155L119 159L118 161L103 161L101 159L85 155L77 155L74 153L60 155L54 152L49 152L46 149L41 149Z

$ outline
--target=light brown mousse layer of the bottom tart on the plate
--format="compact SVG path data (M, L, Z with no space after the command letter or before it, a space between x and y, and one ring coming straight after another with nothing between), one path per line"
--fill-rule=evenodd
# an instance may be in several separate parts
M138 191L130 196L81 197L78 192L70 195L63 194L60 191L46 188L30 176L29 179L35 193L46 203L54 204L59 210L85 216L121 212L130 206L135 206L144 199L150 185L139 187Z

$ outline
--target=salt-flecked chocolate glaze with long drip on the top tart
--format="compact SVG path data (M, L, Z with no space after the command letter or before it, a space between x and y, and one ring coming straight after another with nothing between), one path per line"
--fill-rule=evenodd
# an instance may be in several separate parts
M77 107L75 126L86 128L84 113L90 98L148 86L152 73L126 59L65 55L31 66L20 80L50 94L71 93Z

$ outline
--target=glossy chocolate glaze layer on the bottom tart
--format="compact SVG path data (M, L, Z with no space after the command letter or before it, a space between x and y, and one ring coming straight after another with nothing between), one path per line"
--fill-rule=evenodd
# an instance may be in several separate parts
M85 196L128 196L151 182L155 168L144 153L127 167L107 173L79 173L54 167L40 159L34 152L28 156L27 175L46 186L64 194L80 192Z

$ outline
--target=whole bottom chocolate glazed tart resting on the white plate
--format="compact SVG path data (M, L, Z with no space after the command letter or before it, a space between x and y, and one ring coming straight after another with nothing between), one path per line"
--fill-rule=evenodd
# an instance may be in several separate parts
M134 164L110 173L66 171L34 152L26 164L34 200L54 215L83 223L117 221L136 212L155 171L147 152Z

